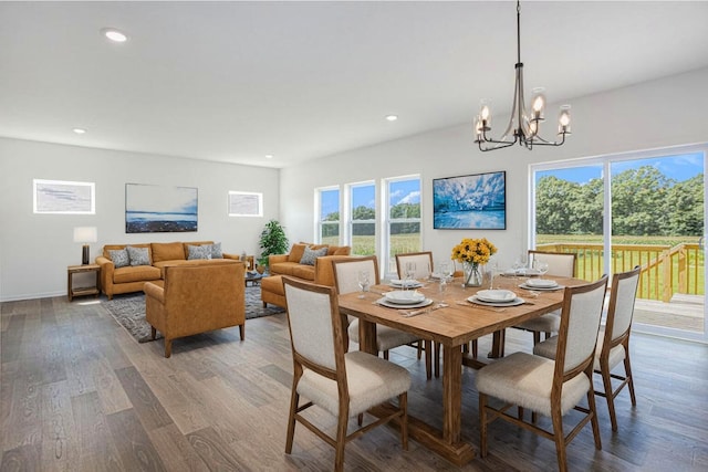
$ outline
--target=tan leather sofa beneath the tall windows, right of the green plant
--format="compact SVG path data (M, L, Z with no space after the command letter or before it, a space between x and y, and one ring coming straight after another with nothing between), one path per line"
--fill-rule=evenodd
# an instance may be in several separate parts
M300 260L304 253L305 245L311 249L327 248L327 255L315 259L314 265L301 264ZM320 285L334 286L334 271L332 261L350 258L351 248L348 245L326 245L296 243L292 245L289 254L270 255L270 276L261 280L261 301L263 306L269 303L285 307L285 292L283 291L282 275L301 279L306 282L314 282Z

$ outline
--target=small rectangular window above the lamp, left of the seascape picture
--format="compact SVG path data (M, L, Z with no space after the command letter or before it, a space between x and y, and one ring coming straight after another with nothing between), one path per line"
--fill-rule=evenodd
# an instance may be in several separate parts
M94 182L33 180L35 213L96 214Z

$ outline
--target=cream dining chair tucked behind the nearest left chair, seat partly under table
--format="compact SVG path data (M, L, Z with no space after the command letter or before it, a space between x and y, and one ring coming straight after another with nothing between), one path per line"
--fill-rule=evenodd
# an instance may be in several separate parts
M360 290L360 271L368 271L373 285L378 285L381 283L378 275L378 260L375 255L332 261L332 266L334 272L334 286L340 294L352 293ZM350 316L348 323L347 338L354 343L358 343L358 319ZM417 347L418 352L420 352L421 343L420 338L409 333L404 333L400 329L381 325L376 327L376 348L378 352L384 353L384 359L388 359L389 349L398 346L415 345L414 347ZM426 347L428 347L429 344L429 342L426 342ZM425 350L426 375L428 378L431 378L431 349Z

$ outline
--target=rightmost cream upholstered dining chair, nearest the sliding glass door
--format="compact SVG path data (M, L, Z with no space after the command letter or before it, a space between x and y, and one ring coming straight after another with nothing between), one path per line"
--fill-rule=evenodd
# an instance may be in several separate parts
M607 318L604 331L601 329L595 349L593 368L595 374L602 376L603 391L595 390L595 395L605 397L610 410L612 430L617 430L617 416L615 413L615 397L627 386L632 406L637 406L634 395L634 380L632 378L632 365L629 363L629 332L634 316L634 304L639 284L639 266L631 271L614 274L607 306ZM554 336L533 347L533 354L550 359L555 357L558 337ZM612 370L624 363L624 375L613 374ZM612 379L620 380L616 388Z

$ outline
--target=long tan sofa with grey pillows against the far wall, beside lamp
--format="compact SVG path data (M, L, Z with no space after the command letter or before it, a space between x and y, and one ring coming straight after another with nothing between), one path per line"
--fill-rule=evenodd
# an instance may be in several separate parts
M187 260L188 245L212 244L212 241L195 242L153 242L142 244L106 244L103 254L96 258L96 264L101 265L101 291L108 300L113 295L131 292L142 292L145 282L162 284L165 277L164 268L167 264L194 265L199 262L218 263L219 259L210 261ZM147 248L150 265L127 265L117 268L111 260L111 250L122 250L132 245L134 248ZM223 254L223 259L239 260L239 255Z

